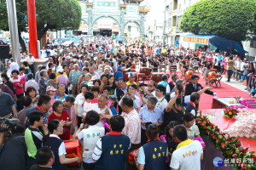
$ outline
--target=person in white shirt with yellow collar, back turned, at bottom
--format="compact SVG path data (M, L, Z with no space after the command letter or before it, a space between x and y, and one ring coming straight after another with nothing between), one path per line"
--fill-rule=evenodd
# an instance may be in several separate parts
M172 153L171 170L200 170L203 150L198 140L188 139L186 127L177 125L173 128L173 137L179 143Z

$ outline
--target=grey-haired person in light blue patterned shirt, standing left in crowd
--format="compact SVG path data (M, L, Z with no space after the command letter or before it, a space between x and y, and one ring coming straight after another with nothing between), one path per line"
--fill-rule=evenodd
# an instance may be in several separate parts
M81 76L81 71L79 71L79 64L73 65L74 69L70 71L69 73L69 82L72 84L72 94L73 96L76 96L78 92L78 82L79 82L79 77Z

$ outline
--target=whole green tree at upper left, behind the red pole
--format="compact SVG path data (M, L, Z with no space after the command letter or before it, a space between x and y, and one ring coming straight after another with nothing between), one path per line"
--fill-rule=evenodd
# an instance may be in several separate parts
M26 0L16 0L19 42L22 51L26 44L21 32L28 31ZM81 22L81 7L77 0L36 0L38 40L46 31L77 30ZM0 30L9 31L6 0L0 0Z

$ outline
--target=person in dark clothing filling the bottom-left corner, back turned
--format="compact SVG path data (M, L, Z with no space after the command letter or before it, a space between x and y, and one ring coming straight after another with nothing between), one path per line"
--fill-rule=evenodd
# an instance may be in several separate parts
M5 134L11 128L12 137L3 145L0 154L0 169L4 170L25 170L26 169L26 143L24 139L24 127L15 124L9 127L6 123L0 124L0 146L5 140Z

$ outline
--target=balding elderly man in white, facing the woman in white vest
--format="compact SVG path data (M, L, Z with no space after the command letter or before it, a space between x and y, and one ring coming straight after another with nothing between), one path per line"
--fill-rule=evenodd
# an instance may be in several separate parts
M106 94L101 94L99 99L98 99L98 103L97 104L92 104L93 105L93 110L96 111L98 114L100 114L100 116L103 115L110 115L112 116L112 111L110 111L107 107L107 103L108 103L108 96ZM98 122L96 124L98 127L103 127L104 125L104 121L102 121L102 119L100 120L100 122Z

